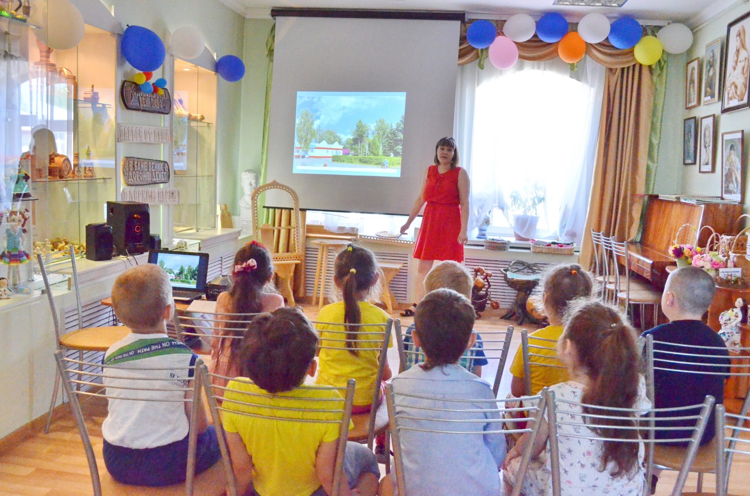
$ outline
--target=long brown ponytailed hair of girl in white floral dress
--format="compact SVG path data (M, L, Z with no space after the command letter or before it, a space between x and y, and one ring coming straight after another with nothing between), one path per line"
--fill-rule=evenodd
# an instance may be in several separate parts
M610 408L633 408L638 396L640 357L635 345L637 333L614 306L592 300L582 300L571 306L565 330L559 339L570 341L580 366L589 376L590 384L581 402ZM586 414L622 417L622 412L583 408ZM592 421L593 422L593 421ZM635 420L607 417L596 419L601 426L592 429L603 438L636 439ZM610 462L616 465L612 477L631 476L638 465L638 444L633 442L603 441L601 468Z

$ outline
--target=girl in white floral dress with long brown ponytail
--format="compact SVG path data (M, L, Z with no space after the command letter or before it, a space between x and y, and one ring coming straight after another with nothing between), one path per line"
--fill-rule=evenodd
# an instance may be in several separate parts
M647 410L646 385L640 374L640 356L636 348L635 330L622 317L619 309L597 301L583 300L571 305L565 330L558 342L558 357L568 367L569 379L550 387L556 399L610 408ZM578 408L565 405L565 411ZM622 412L583 408L583 414ZM562 414L566 421L592 423L588 417ZM569 435L598 436L610 439L634 439L636 417L595 419L596 429L559 426L559 453L562 495L601 494L637 496L643 492L643 444L621 441L595 441L565 437ZM540 427L532 453L539 456L523 481L516 480L520 455L530 436L523 435L508 452L503 465L505 480L512 486L523 484L526 496L551 495L550 453L547 424ZM575 432L573 431L575 429ZM541 454L546 445L546 453Z

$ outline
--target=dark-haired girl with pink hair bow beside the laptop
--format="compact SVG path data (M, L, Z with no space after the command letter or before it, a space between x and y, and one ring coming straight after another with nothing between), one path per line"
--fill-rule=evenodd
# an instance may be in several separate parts
M273 312L284 306L281 294L266 291L274 276L274 266L271 253L257 241L251 241L240 248L235 255L232 270L232 287L223 291L216 299L217 313L261 313ZM224 327L245 327L241 322L252 320L251 317L234 315L226 325L214 322L214 339L211 339L211 372L226 377L238 377L241 374L239 366L239 348L242 339L220 339L215 336L227 336L239 331L223 330ZM212 378L217 386L226 386L226 379ZM217 395L223 390L217 389Z

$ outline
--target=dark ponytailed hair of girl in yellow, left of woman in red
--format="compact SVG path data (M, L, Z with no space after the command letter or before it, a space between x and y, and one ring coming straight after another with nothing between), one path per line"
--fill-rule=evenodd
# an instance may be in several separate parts
M349 244L338 254L334 262L333 278L344 296L344 324L362 324L357 296L371 291L379 282L379 275L377 259L369 249ZM351 327L348 329L347 339L357 339L357 334ZM356 343L347 341L347 348L351 354L357 354Z

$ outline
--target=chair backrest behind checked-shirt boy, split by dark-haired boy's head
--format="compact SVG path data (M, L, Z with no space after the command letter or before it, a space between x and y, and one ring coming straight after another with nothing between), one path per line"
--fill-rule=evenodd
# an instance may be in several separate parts
M425 361L425 354L411 341L409 327L401 327L401 319L395 321L396 345L398 346L399 372L404 372L410 365ZM484 353L487 360L497 360L495 379L492 390L497 396L502 380L502 371L505 370L505 361L508 360L508 352L513 339L513 326L509 325L507 330L482 330L481 342L477 340L472 348L466 350L458 364L472 372L474 360L477 359L477 351Z

